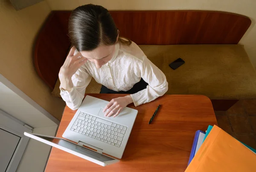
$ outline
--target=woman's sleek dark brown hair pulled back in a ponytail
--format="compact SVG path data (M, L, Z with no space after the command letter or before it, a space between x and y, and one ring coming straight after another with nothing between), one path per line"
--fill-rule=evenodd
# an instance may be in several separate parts
M119 30L108 10L102 6L87 4L74 9L68 22L69 37L78 51L92 51L99 45L114 45ZM131 40L120 38L123 45Z

